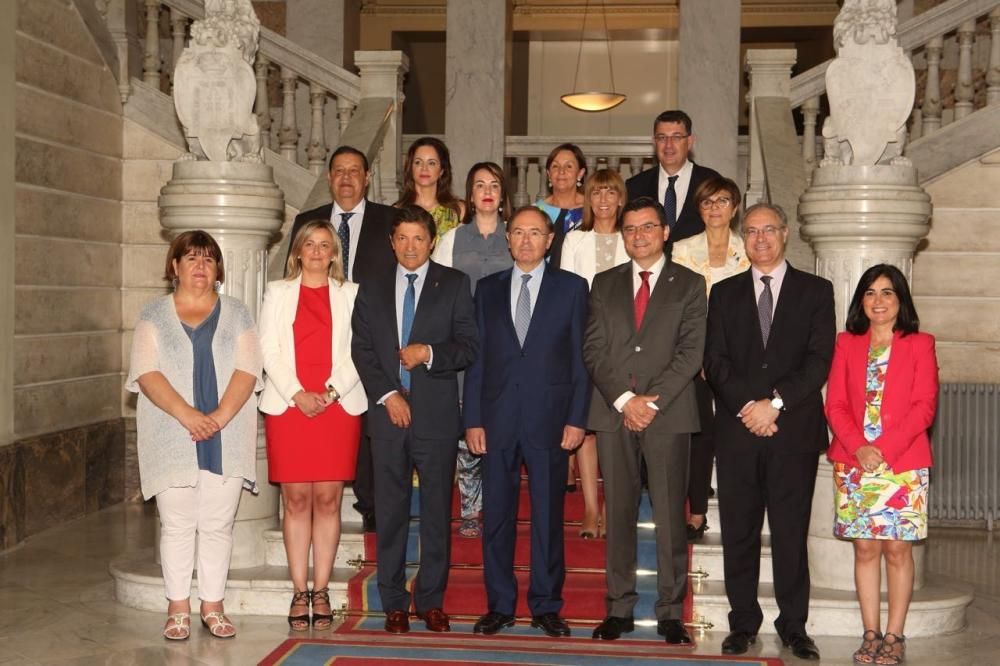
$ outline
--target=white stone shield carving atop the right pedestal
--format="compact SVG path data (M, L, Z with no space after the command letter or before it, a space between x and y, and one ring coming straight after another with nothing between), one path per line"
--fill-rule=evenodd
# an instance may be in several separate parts
M916 84L896 40L895 0L845 0L833 39L837 57L826 70L830 117L823 124L830 157L823 162L908 166L902 153Z

